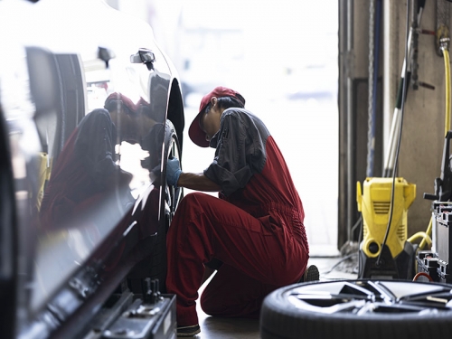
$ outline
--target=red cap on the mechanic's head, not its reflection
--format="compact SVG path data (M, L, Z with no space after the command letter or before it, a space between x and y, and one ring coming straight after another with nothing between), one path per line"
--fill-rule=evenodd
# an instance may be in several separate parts
M192 125L190 125L190 128L188 129L189 137L192 139L193 143L200 147L209 147L209 141L205 139L205 133L202 131L200 127L199 119L201 118L203 110L207 107L207 105L209 105L209 102L213 97L215 98L234 97L235 99L240 100L240 102L242 102L243 105L245 105L245 99L243 99L239 92L236 92L233 89L227 89L226 87L221 86L216 87L215 89L212 90L212 92L206 94L201 100L198 115L196 116L196 118L193 119Z

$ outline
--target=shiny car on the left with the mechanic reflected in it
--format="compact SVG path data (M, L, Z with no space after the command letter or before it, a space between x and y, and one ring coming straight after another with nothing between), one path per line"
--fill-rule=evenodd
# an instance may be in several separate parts
M0 29L2 337L174 337L172 61L102 0L4 0Z

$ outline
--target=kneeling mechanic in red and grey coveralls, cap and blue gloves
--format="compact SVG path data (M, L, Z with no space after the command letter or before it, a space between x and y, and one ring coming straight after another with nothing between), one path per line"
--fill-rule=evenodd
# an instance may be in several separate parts
M264 297L278 287L318 279L306 269L305 212L283 155L263 122L235 90L204 96L189 129L193 142L216 148L202 174L170 159L167 184L196 191L180 202L167 234L166 288L176 295L177 334L200 332L195 300L202 283L208 315L259 318Z

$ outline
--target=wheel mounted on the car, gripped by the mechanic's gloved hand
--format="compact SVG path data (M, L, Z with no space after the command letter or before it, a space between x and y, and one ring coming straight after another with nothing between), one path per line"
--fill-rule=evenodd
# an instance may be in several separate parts
M165 154L163 161L171 157L181 158L181 146L179 145L179 139L175 132L174 126L171 121L167 120L165 125ZM164 171L165 174L165 171ZM151 259L151 276L156 278L160 282L160 291L165 293L165 279L166 279L166 232L169 225L173 220L174 212L181 199L184 196L182 188L168 186L165 184L165 222L161 222L159 230L157 231L155 239L155 247Z

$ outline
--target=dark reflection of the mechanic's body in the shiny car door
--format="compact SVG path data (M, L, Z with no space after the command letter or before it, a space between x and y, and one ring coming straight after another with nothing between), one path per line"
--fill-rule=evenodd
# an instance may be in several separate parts
M131 174L119 171L113 158L116 139L117 130L108 110L94 109L81 119L53 165L42 198L42 230L81 228L85 224L113 227L122 219L118 206L107 203L116 189L121 205L126 210L133 207L135 200L128 188ZM107 208L108 212L99 213Z

